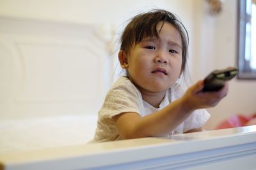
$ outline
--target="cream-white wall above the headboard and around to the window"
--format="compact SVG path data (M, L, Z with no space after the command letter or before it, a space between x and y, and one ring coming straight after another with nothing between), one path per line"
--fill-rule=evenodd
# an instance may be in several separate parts
M202 79L216 68L236 65L236 1L226 0L221 15L205 13L204 0L0 0L0 16L61 23L109 25L117 34L127 19L150 8L164 8L177 13L190 35L189 58L193 81ZM209 109L213 128L220 120L236 113L256 112L255 81L230 82L230 93L218 106Z

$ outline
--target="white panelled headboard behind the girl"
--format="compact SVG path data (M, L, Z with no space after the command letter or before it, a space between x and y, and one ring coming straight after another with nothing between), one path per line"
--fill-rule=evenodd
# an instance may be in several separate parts
M104 26L0 18L0 118L95 113L111 84Z

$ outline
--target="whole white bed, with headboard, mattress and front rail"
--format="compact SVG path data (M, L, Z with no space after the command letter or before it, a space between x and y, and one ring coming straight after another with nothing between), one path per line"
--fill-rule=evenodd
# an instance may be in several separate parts
M111 26L0 17L0 169L255 169L255 126L88 144L113 51Z

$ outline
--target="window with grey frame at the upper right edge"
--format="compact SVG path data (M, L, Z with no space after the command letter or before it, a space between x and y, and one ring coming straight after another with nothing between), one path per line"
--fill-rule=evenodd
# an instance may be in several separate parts
M238 0L239 79L256 79L256 0Z

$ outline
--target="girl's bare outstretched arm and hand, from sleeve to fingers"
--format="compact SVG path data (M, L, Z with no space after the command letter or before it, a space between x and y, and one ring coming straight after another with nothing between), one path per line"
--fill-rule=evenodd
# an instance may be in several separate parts
M156 137L170 134L193 111L213 107L227 95L228 85L216 92L202 92L204 81L191 86L184 96L161 111L141 117L136 112L124 112L113 117L120 139Z

